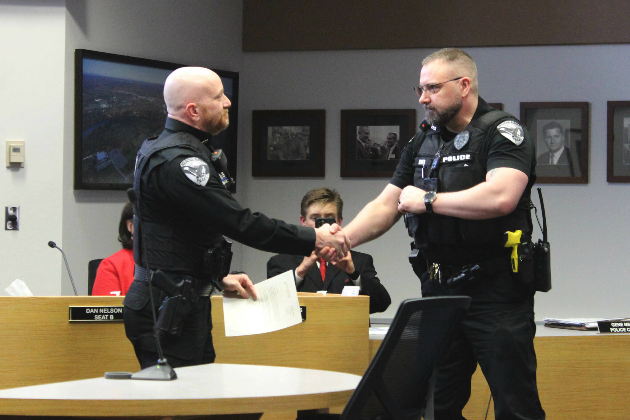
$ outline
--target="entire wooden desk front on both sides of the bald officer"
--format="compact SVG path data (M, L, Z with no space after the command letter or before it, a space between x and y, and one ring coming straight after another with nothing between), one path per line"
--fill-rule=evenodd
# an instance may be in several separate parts
M0 389L136 372L122 322L68 322L69 306L122 305L123 297L0 297ZM300 296L307 321L281 331L226 338L221 297L212 297L217 362L338 370L363 375L369 300Z

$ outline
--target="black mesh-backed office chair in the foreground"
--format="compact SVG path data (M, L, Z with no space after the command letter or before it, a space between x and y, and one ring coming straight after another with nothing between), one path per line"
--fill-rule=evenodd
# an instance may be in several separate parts
M435 366L470 301L466 296L405 300L343 413L299 420L433 419Z

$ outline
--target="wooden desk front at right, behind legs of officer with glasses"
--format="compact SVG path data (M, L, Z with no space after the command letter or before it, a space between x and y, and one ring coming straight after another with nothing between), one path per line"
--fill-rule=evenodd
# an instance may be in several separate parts
M370 340L370 360L381 340ZM630 388L630 335L551 336L534 339L537 383L548 419L624 419ZM486 418L490 389L481 369L473 375L469 420ZM488 419L495 417L490 404Z

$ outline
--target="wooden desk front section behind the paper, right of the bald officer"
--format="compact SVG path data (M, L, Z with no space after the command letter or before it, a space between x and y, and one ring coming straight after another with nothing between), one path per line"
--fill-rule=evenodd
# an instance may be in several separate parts
M368 365L369 298L299 293L306 321L267 334L225 337L221 297L212 297L217 363L290 366L363 375ZM219 339L221 338L221 339Z

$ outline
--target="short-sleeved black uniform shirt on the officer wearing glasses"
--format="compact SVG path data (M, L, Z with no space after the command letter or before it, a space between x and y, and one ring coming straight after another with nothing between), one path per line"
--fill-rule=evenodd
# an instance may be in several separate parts
M478 107L473 115L471 123L476 122L476 120L478 120L479 117L481 117L482 115L492 110L493 108L491 108L486 103L486 101L484 101L482 98L479 98ZM498 120L498 122L494 124L494 127L490 127L488 134L483 140L483 144L481 146L481 152L479 153L479 156L476 156L473 154L473 159L477 159L481 157L481 159L479 159L479 164L481 164L481 167L484 169L483 175L479 174L479 179L476 179L476 182L471 183L471 185L467 186L466 188L470 188L471 186L474 186L476 184L479 184L485 181L485 174L488 173L488 171L491 171L492 169L496 169L499 167L510 167L513 169L518 169L519 171L522 171L523 173L527 174L527 176L529 177L527 186L522 196L518 200L518 205L517 205L517 208L515 209L515 212L519 212L520 214L523 215L523 217L525 217L525 219L527 219L527 223L524 226L520 227L520 229L524 230L525 232L526 230L531 230L531 227L530 226L528 227L527 225L531 224L530 215L529 215L529 211L530 211L529 203L530 203L530 191L534 182L536 181L536 175L535 175L536 151L534 147L534 142L532 142L529 132L527 132L526 129L523 130L524 139L522 142L520 142L520 144L517 144L517 142L510 139L507 135L501 134L501 132L497 130L496 127L505 121L513 121L520 125L520 123L518 123L518 120L515 117L506 114L505 118L501 118L500 120ZM464 128L462 132L468 130L469 127ZM444 149L442 151L442 156L444 156L445 154L457 155L458 154L457 152L459 152L459 150L457 150L457 148L454 147L454 144L453 144L453 141L455 137L457 136L457 133L449 132L445 127L435 127L435 128L437 128L437 131L438 131L438 134L440 135L441 140L445 143ZM431 130L433 130L433 128ZM427 133L430 132L431 130L428 130ZM415 135L415 137L413 137L413 139L411 139L410 142L406 145L406 147L404 148L401 154L401 159L399 161L398 167L396 167L396 172L394 173L394 176L392 176L389 183L395 186L398 186L399 188L404 188L405 186L414 184L414 174L416 171L416 167L415 167L416 155L418 154L418 150L421 147L421 139L424 139L424 138L425 138L425 132L418 132ZM464 146L461 148L461 154L466 154L466 150L467 150L467 144L464 144ZM484 150L487 152L487 156ZM483 160L485 160L486 158L487 160L484 165ZM438 168L438 171L449 170L449 169L452 169L452 167L454 166L461 166L463 164L466 164L466 162L464 163L455 162L455 164L453 162L445 162L444 164L441 163L440 167ZM466 188L461 188L460 190L466 189ZM450 190L450 191L458 191L458 190ZM445 191L438 189L438 193L439 192L445 192ZM510 214L514 214L515 212L510 213ZM440 216L435 215L435 217L440 217ZM454 218L454 219L457 219L457 218ZM462 224L476 223L476 221L471 222L469 220L464 220L464 219L457 219L457 220L459 220ZM493 220L493 223L494 222L495 220ZM496 246L492 246L494 251L491 251L490 253L490 251L488 251L488 246L461 247L461 244L455 244L452 247L449 247L449 246L442 247L444 251L442 253L437 253L437 255L442 256L442 258L444 258L445 260L448 260L448 261L442 261L442 262L446 262L450 264L478 262L474 260L479 259L479 258L481 259L490 258L490 254L492 253L495 255L496 253L503 253L505 249L501 249L501 247L502 247L502 244L497 243ZM469 254L469 258L466 258L466 254ZM468 261L464 262L463 259L467 259ZM436 261L436 262L439 262L439 261Z

